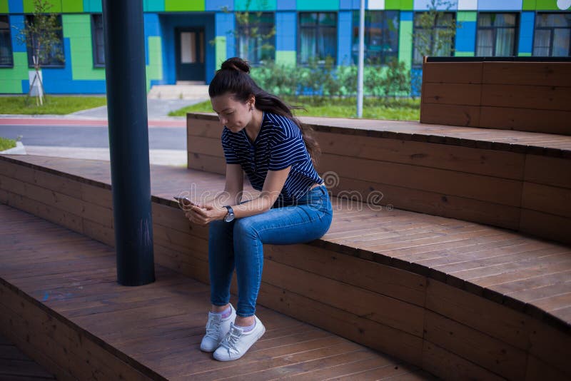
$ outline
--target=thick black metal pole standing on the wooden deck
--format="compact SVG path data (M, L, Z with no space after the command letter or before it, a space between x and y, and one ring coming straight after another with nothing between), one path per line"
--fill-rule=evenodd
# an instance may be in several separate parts
M103 0L117 280L155 280L143 0Z

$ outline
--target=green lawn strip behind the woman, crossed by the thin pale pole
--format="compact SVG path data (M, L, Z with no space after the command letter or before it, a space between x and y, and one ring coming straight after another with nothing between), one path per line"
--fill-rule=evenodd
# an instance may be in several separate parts
M297 116L329 116L332 118L355 118L357 103L355 98L286 98L291 104L303 106L305 110L295 110ZM169 116L186 116L186 113L211 113L210 101L171 111ZM365 98L363 118L388 119L395 121L418 121L420 119L420 99L410 98Z

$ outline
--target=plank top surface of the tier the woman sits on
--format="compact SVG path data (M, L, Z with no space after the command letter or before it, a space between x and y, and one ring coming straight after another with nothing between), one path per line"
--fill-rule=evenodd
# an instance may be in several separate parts
M111 183L108 162L41 156L17 159ZM213 173L151 166L151 193L162 203L170 203L172 195L181 191L198 197L222 190L223 183L223 176ZM571 325L570 246L462 220L332 201L333 223L316 245L390 263L536 317Z

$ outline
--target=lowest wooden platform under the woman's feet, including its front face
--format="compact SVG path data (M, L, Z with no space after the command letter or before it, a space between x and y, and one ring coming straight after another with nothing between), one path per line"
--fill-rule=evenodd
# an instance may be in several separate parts
M118 285L113 248L7 205L0 235L1 331L44 364L65 364L59 380L431 378L263 307L266 335L243 359L217 362L199 349L208 285L161 265L155 283Z

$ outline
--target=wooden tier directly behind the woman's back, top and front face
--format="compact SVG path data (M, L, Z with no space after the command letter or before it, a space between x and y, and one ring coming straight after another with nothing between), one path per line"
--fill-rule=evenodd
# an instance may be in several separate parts
M571 243L571 136L415 121L301 118L330 192ZM188 113L188 168L224 174L213 114Z

